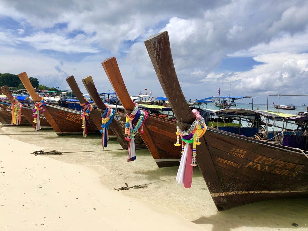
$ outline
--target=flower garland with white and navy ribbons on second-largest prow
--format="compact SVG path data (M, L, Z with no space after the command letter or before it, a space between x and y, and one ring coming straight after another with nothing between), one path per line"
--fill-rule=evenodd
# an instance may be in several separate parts
M140 127L141 127L140 133L144 133L143 126L147 118L148 118L148 112L140 110L138 107L138 103L135 103L135 107L132 113L130 115L126 114L125 116L125 134L127 134L125 140L129 141L128 154L127 154L128 162L136 160L135 136ZM136 125L134 126L135 122Z

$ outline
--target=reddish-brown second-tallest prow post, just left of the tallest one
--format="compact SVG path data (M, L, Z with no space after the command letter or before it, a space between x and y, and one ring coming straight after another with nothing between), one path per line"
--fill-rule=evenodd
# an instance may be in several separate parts
M117 96L119 97L123 107L125 110L130 113L129 111L132 111L135 107L132 99L130 98L127 88L124 84L118 63L115 59L115 57L107 58L102 62L102 66L107 74L107 77L115 90ZM154 144L150 133L147 128L147 123L145 123L143 127L144 133L139 133L142 137L144 143L147 145L149 151L151 152L154 159L159 159L159 153L156 148L156 145Z

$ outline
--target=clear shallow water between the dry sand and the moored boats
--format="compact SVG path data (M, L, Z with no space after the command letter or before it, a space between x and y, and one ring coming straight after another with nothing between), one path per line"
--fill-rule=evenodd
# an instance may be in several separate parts
M175 180L177 167L158 168L146 149L136 150L137 159L127 162L127 151L116 140L108 141L108 147L103 150L100 134L90 134L86 138L82 135L57 136L51 129L35 131L30 126L2 125L0 133L41 146L44 151L63 152L56 156L44 155L46 158L94 168L100 173L101 183L110 190L125 186L125 183L129 187L147 184L147 188L117 193L172 210L204 230L308 230L308 199L261 201L217 211L197 167L194 168L192 187L185 189ZM132 222L136 222L137 227L138 217Z

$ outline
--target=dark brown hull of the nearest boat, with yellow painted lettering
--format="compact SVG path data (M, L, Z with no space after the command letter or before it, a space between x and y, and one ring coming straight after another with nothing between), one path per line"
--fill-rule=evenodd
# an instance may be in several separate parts
M207 148L197 162L218 210L308 196L308 159L300 151L211 128L202 142ZM210 156L213 164L199 161L200 155Z

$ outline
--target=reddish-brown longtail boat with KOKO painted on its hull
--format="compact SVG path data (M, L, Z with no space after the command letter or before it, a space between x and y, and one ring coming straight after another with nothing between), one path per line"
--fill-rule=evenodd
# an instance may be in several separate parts
M26 72L22 72L18 74L18 76L32 99L35 102L39 102L41 99L34 91L34 88L32 87ZM83 133L83 128L81 128L82 112L80 111L46 104L45 112L42 111L42 113L45 115L46 119L50 123L51 127L55 130L57 135L73 135ZM96 128L95 124L91 120L91 116L88 116L88 119L88 133L99 132L99 130Z

